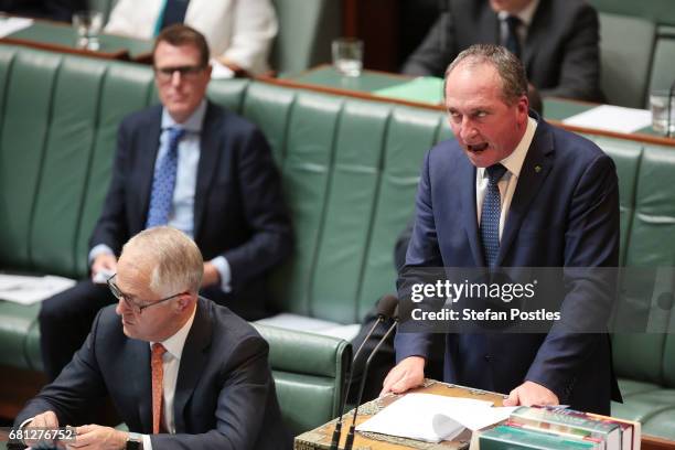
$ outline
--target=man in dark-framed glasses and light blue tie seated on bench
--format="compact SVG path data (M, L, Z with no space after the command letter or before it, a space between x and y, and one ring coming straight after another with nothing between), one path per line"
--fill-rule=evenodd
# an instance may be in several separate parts
M202 294L246 320L269 314L264 278L292 249L279 174L262 133L205 97L204 36L185 25L156 42L161 106L119 127L113 179L90 239L92 280L46 300L40 313L45 372L55 378L115 299L105 281L121 245L146 227L170 225L204 255Z

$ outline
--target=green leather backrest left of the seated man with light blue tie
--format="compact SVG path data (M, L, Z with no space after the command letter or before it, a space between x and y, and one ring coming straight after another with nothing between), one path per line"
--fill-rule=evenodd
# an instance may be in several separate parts
M0 267L81 277L116 129L148 105L151 71L6 45L0 55Z

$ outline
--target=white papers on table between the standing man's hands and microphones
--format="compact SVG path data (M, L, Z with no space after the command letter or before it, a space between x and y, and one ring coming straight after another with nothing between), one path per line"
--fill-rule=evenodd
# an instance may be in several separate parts
M493 407L492 401L407 394L356 427L358 431L418 439L452 440L464 428L472 431L508 418L516 407Z

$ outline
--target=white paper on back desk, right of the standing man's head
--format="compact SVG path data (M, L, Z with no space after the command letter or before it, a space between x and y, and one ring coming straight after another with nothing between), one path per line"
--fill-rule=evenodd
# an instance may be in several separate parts
M652 113L646 109L601 105L562 120L577 127L617 132L633 132L652 125Z

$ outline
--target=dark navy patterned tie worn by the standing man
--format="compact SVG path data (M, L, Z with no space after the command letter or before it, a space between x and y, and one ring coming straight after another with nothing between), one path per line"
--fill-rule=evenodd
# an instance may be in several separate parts
M497 163L485 170L489 181L481 211L481 240L485 264L488 267L494 267L500 253L500 214L502 212L502 196L497 183L504 176L506 168Z

